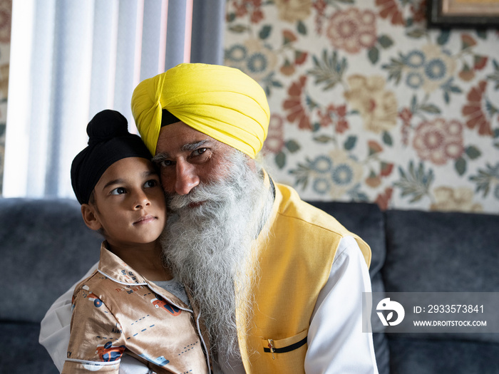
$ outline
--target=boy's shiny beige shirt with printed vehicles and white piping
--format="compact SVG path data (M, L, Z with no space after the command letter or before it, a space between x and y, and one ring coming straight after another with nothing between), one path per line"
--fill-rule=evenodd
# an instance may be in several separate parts
M63 374L118 374L127 353L155 373L208 373L199 316L101 246L98 269L76 286Z

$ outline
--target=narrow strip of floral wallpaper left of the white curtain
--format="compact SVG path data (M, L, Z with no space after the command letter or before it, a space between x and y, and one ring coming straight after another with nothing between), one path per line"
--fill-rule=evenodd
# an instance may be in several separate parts
M5 125L9 92L12 0L0 0L0 195L4 181Z

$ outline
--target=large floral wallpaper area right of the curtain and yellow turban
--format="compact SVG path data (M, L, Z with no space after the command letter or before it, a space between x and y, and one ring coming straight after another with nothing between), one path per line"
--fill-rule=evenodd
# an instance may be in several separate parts
M225 65L267 92L274 180L304 199L499 213L499 33L423 0L227 0Z

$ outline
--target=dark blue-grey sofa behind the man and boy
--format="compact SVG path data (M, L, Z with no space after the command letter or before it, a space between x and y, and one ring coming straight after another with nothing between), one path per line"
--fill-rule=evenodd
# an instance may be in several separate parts
M373 251L373 291L499 291L499 215L313 202ZM38 344L58 295L98 260L101 237L69 199L0 198L0 373L58 373ZM374 333L380 373L499 373L499 334Z

